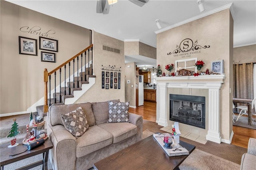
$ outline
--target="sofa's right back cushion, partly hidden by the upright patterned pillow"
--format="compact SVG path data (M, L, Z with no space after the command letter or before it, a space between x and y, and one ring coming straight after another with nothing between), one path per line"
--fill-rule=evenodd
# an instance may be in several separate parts
M108 102L109 101L92 103L92 111L94 113L96 125L100 125L108 121ZM119 99L112 100L112 102L118 103Z

